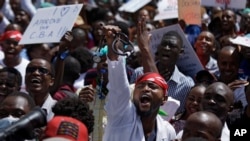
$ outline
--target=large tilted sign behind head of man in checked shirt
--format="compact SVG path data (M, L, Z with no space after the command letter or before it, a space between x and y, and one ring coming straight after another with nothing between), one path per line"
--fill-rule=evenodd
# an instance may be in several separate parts
M156 29L151 32L152 37L150 40L150 47L153 55L157 51L157 47L161 42L163 34L168 31L175 31L182 37L184 53L179 56L177 66L183 74L194 78L196 73L204 68L179 24Z

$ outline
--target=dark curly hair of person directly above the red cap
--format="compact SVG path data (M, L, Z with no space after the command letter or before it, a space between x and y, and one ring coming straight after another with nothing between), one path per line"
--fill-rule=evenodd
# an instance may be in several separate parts
M88 128L88 133L94 129L94 115L87 102L79 98L65 98L58 101L52 111L55 116L69 116L80 120Z

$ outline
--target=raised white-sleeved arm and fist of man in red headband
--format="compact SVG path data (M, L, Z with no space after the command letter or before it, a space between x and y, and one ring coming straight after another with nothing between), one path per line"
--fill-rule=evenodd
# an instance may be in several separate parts
M105 39L108 45L108 96L105 110L110 120L109 122L119 123L120 115L129 115L128 107L130 103L130 89L125 68L125 57L115 54L112 50L112 43L116 38L116 33L120 32L117 26L104 26ZM117 47L121 43L115 44ZM125 117L125 116L124 116ZM125 120L125 119L124 119ZM121 121L121 119L120 119Z

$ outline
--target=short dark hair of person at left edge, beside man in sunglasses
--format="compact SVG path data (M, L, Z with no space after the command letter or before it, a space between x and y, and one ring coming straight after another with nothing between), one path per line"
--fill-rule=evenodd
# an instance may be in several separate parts
M19 87L18 89L20 90L21 85L22 85L22 79L23 79L21 73L13 67L3 67L2 69L0 69L0 73L2 72L8 72L8 73L14 74L16 78L15 81Z

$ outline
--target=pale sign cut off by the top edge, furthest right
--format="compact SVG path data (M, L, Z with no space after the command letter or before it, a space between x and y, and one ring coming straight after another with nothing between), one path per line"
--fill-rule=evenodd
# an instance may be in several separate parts
M211 7L243 9L246 7L246 0L201 0L201 5Z

